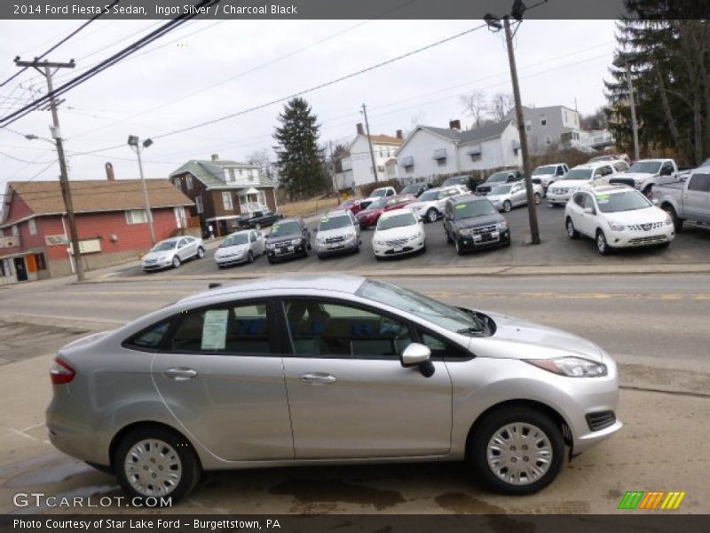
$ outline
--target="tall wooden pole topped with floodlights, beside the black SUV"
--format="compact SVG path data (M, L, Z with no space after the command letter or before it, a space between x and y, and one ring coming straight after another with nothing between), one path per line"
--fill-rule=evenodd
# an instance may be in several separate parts
M530 243L540 244L540 227L538 227L537 205L535 204L535 194L533 191L533 169L530 168L530 154L527 149L527 132L525 131L525 115L523 115L523 103L520 98L520 84L517 82L516 55L513 50L513 32L510 30L510 17L512 16L518 23L523 20L525 4L522 0L515 0L509 15L500 19L492 13L486 13L483 20L488 28L493 31L500 31L505 28L505 41L508 48L508 61L510 65L510 79L513 83L513 98L516 101L517 131L520 134L520 152L523 155L523 174L525 177L525 193L527 195L527 215L530 223ZM503 24L501 25L501 20Z

